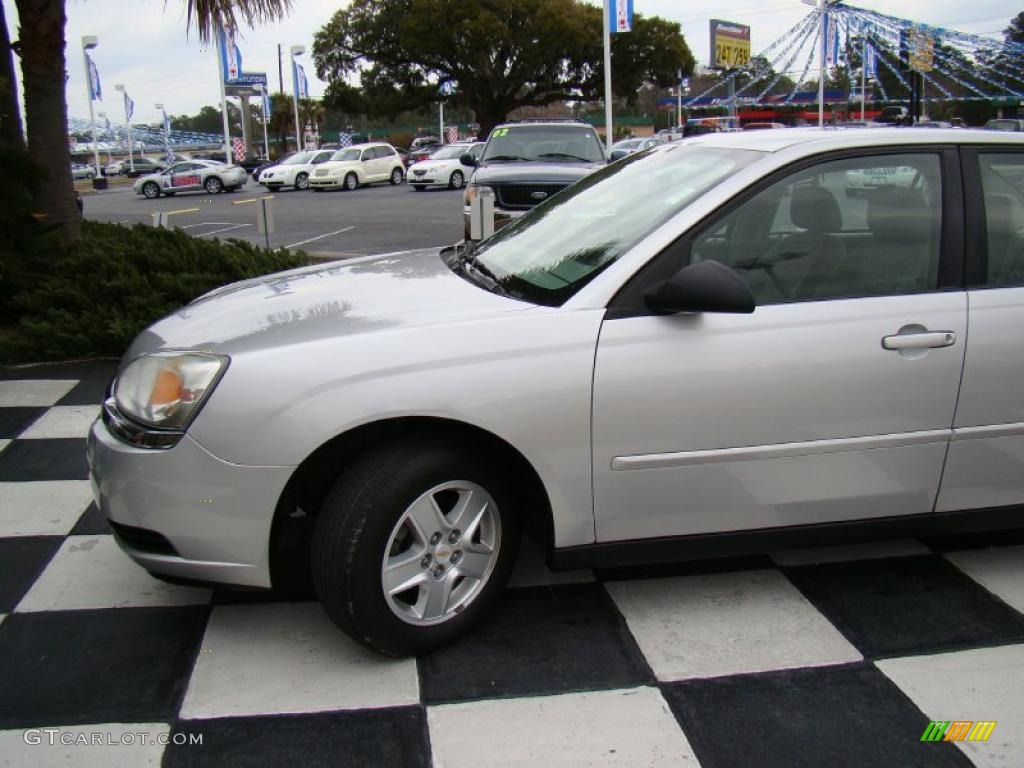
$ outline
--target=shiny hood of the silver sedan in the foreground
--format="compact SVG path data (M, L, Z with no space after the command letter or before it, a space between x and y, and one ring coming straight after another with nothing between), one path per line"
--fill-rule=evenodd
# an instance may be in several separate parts
M534 305L453 272L438 249L300 267L201 296L143 331L128 361L160 349L224 354L319 339L472 322Z

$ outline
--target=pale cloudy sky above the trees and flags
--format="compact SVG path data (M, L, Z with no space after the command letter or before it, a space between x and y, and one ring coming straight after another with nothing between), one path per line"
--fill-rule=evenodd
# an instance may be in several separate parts
M454 0L458 1L458 0ZM12 37L17 35L13 0L2 0ZM267 72L276 88L276 44L312 46L312 38L339 8L338 0L295 0L288 18L257 30L244 30L242 51L247 71ZM982 35L998 35L1021 6L1006 0L858 0L851 4L933 26ZM682 25L697 60L708 59L708 19L724 18L752 28L755 53L770 45L811 9L800 0L717 0L682 3L679 0L634 0L637 11L660 15ZM204 50L195 33L185 33L182 0L68 0L68 104L72 115L86 117L88 103L80 49L83 35L99 37L93 51L104 89L103 105L114 122L123 120L115 83L125 83L135 101L139 122L156 121L154 103L163 101L172 114L191 114L219 99L214 54ZM324 91L306 60L310 94ZM285 89L291 78L285 61Z

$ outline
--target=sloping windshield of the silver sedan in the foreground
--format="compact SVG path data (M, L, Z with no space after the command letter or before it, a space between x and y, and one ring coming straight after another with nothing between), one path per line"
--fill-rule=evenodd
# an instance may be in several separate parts
M763 157L682 144L630 155L482 241L474 261L510 294L557 306L712 186Z

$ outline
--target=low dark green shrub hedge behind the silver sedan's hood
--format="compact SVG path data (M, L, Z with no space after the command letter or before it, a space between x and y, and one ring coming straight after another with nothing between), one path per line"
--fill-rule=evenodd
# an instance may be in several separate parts
M146 326L226 283L307 263L305 254L175 229L82 223L82 242L25 259L17 323L0 335L0 361L120 355Z

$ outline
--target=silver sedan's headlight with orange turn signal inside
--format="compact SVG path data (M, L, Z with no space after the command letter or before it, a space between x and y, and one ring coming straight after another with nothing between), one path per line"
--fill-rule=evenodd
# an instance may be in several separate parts
M158 352L132 360L118 377L114 399L133 421L184 430L227 369L228 358L207 352Z

